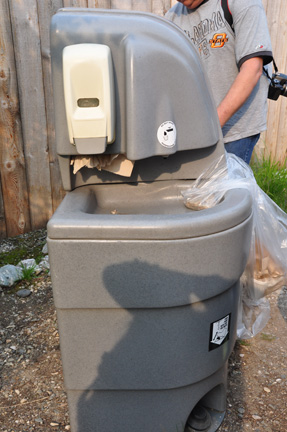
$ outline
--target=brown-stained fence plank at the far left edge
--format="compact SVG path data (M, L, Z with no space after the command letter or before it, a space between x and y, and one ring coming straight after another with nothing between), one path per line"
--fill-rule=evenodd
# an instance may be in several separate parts
M30 230L30 216L8 0L0 5L0 106L0 233L10 237Z

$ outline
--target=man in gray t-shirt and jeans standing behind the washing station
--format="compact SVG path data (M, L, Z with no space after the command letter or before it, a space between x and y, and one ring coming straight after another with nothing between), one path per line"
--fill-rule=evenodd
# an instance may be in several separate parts
M269 80L263 67L273 60L261 0L178 0L165 16L198 50L226 151L249 163L267 126Z

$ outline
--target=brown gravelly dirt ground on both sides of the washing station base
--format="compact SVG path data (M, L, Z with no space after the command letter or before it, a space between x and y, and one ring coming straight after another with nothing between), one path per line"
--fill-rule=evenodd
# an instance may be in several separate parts
M0 431L65 432L69 415L49 275L29 289L26 298L0 291ZM287 290L269 301L263 332L237 342L230 357L219 432L287 431Z

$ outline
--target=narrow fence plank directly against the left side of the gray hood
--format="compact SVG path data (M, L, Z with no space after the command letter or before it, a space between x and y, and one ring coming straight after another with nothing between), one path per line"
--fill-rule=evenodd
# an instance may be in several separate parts
M51 80L50 21L57 10L62 7L62 0L38 1L53 211L56 210L60 202L63 200L64 190L62 187L55 143L54 103Z

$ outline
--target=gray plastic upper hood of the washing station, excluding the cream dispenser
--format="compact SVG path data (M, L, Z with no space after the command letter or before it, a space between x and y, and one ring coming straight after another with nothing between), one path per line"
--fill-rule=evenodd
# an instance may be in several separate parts
M115 141L107 145L105 153L124 153L130 160L142 161L193 149L196 163L190 161L190 169L194 171L192 178L196 178L204 167L200 162L210 163L219 148L223 151L209 84L184 32L166 19L147 13L63 9L52 19L51 61L57 153L66 189L72 188L75 179L81 181L82 172L75 178L70 172L69 159L77 155L77 150L68 136L62 56L67 45L81 43L106 44L112 53L116 130ZM171 123L176 139L172 145L165 145L158 133L162 125ZM178 171L176 159L171 165L164 163L162 172ZM155 165L158 175L158 158ZM130 181L135 181L136 172L137 167ZM93 174L90 170L88 177L92 175L85 184L129 181L97 170ZM144 167L143 176L151 175L152 170Z

